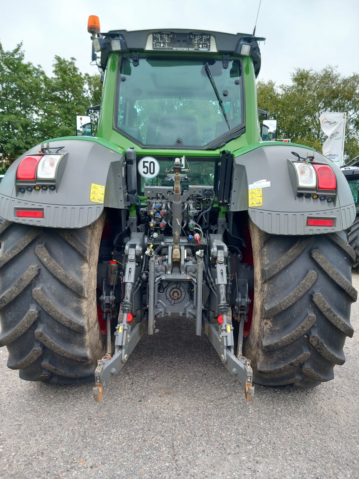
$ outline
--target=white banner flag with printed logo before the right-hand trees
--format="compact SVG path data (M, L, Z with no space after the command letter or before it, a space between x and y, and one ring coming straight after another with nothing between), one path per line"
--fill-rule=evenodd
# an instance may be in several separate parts
M338 166L343 163L346 113L324 112L320 115L320 126L328 137L323 144L323 155Z

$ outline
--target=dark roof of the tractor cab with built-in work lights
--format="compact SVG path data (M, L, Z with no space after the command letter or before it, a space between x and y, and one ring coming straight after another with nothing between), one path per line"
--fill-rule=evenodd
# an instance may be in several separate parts
M101 33L107 48L101 48L101 66L106 68L111 51L142 52L202 52L204 54L223 53L223 55L250 55L253 58L256 77L260 69L260 51L258 42L265 38L251 34L229 34L209 30L191 29L153 29L153 30L111 30ZM117 42L112 42L117 40Z

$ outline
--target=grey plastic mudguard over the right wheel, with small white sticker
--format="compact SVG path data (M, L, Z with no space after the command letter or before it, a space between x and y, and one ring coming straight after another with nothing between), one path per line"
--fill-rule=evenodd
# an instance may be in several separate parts
M332 203L319 197L297 198L296 178L292 161L298 161L292 151L301 157L314 156L314 163L326 163L337 177L337 194ZM249 186L262 182L261 206L250 207ZM259 183L257 183L259 188ZM348 183L340 169L317 151L285 144L260 144L258 148L237 156L234 160L230 210L248 210L258 228L276 235L314 235L332 233L349 228L356 209ZM308 217L334 219L333 227L307 226Z

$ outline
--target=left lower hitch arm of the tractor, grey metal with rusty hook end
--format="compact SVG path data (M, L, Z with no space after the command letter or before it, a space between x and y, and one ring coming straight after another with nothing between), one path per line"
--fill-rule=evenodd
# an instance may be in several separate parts
M106 354L97 361L95 387L93 388L93 399L96 402L101 401L106 382L122 369L146 329L147 319L137 323L132 331L131 325L127 323L127 320L124 320L117 326L115 332L115 354L113 356Z

